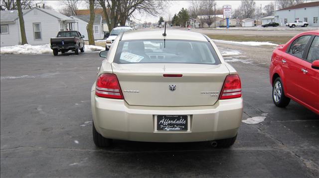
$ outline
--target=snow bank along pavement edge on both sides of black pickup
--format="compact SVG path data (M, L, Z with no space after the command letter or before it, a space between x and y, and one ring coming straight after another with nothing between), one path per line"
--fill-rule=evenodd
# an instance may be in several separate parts
M85 45L86 52L92 51L102 51L104 50L103 47L100 46L93 46L93 45ZM15 46L8 46L8 47L1 47L0 54L52 54L53 51L50 48L50 44L46 45L15 45Z

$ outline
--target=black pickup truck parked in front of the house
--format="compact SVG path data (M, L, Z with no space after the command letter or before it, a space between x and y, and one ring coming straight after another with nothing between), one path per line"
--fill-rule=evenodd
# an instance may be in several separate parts
M57 56L59 52L65 53L68 51L74 51L76 55L79 54L79 50L84 52L84 35L81 35L78 31L60 31L56 38L51 38L51 49L53 55Z

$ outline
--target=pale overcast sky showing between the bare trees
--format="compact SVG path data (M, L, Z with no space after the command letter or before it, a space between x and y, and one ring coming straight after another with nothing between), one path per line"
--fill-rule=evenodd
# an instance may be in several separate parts
M41 0L40 0L41 1ZM274 2L275 0L255 0L256 6L260 8L260 5L262 5L262 8L269 4L270 2ZM315 1L315 0L305 0L307 2L310 1ZM188 8L190 6L191 0L172 0L170 1L169 8L165 9L160 16L163 16L164 20L168 20L168 16L170 14L170 17L173 17L175 13L178 13L178 11L181 8ZM240 0L216 0L217 2L217 7L222 7L223 5L231 5L233 9L238 8L240 6ZM55 10L61 9L63 6L61 5L61 2L59 0L44 0L44 3L47 5L52 6ZM81 9L87 8L87 4L82 1L82 6ZM157 22L159 20L158 16L153 16L153 15L140 15L137 14L135 15L136 17L136 22Z

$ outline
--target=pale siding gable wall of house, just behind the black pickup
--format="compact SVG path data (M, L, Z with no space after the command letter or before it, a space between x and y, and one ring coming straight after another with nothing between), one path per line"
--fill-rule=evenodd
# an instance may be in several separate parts
M36 8L23 15L26 40L30 45L43 45L50 43L50 38L56 37L59 30L59 21L56 17L42 12ZM35 40L33 23L41 23L42 39ZM18 23L18 22L17 22Z

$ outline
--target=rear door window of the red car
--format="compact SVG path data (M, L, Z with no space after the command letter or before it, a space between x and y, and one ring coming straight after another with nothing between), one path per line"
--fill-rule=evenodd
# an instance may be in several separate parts
M311 38L311 35L305 35L305 36L301 36L301 37L297 38L291 44L291 47L290 47L288 53L292 54L298 58L303 58L304 51L307 47L307 44L308 44L310 38Z

